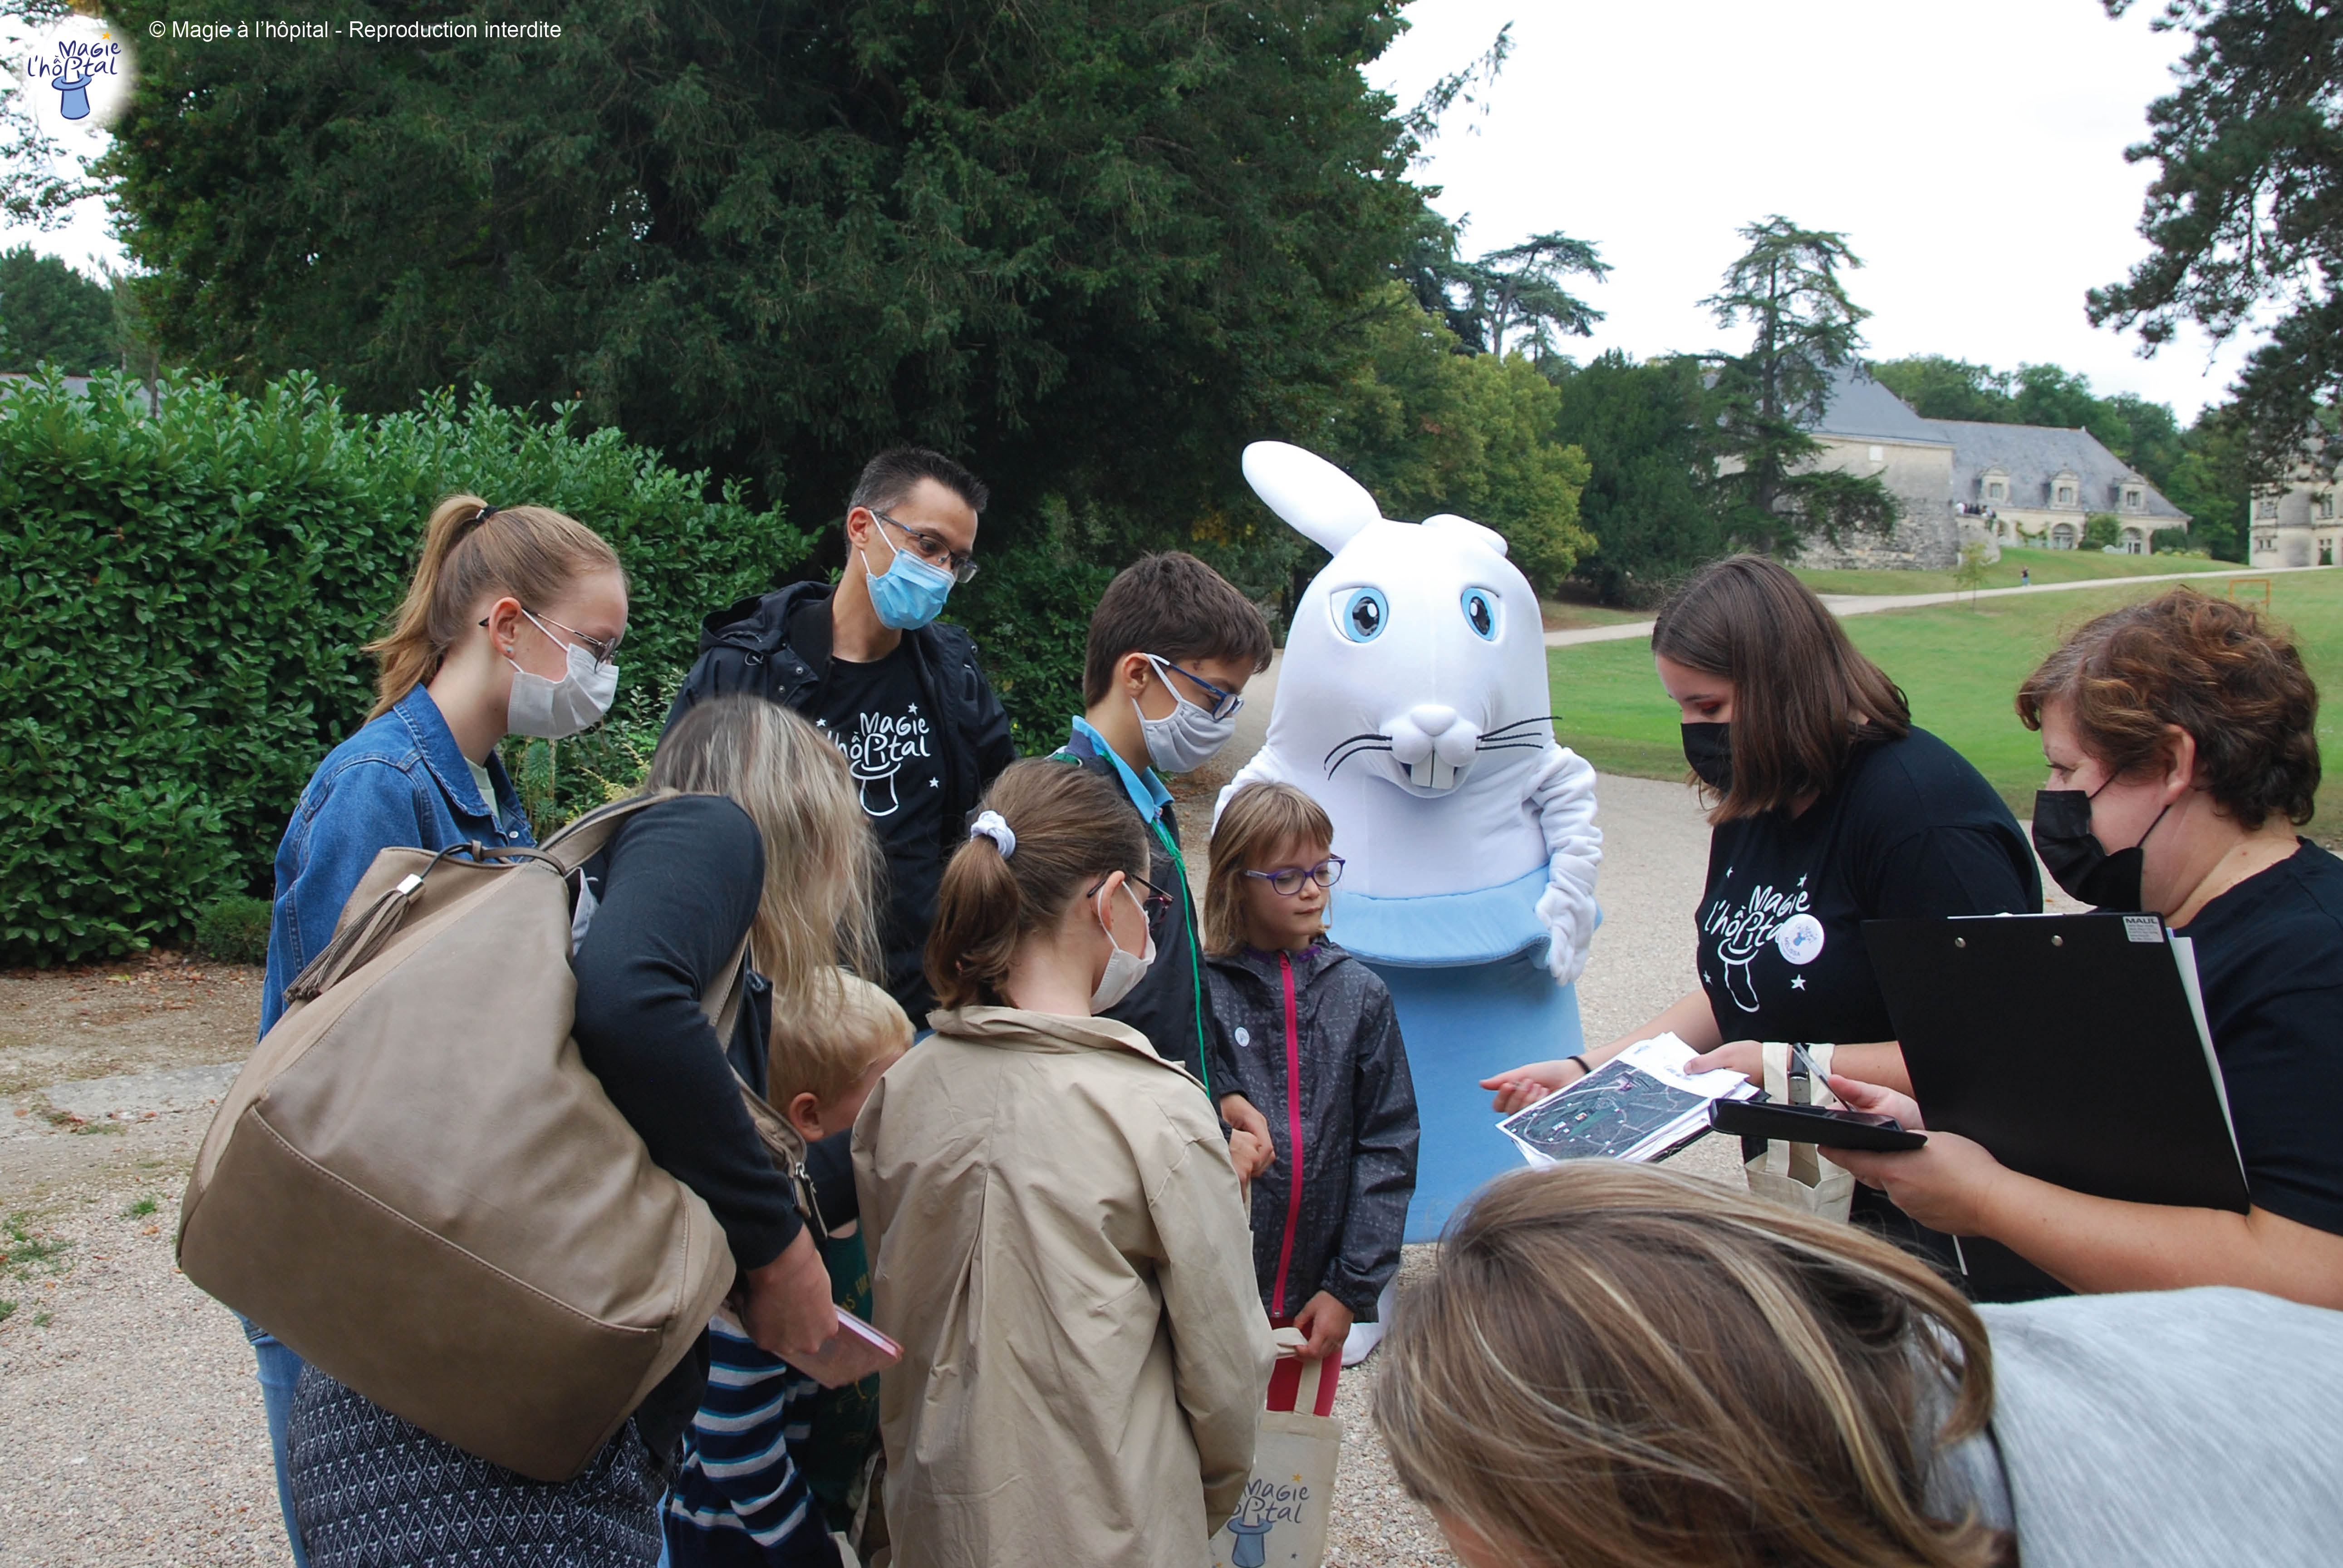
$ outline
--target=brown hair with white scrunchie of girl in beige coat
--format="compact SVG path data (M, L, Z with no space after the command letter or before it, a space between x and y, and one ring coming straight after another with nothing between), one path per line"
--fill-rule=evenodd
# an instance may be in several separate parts
M1054 926L1108 872L1148 874L1139 813L1087 769L1054 757L1012 762L984 792L984 809L1010 825L1017 853L972 837L944 865L928 930L928 984L944 1008L1005 1003L1000 984L1019 942Z

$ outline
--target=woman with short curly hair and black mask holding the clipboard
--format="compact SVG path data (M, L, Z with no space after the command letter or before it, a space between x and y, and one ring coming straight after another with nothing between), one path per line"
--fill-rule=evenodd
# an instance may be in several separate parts
M2076 1291L2242 1284L2343 1308L2343 860L2294 834L2320 788L2317 708L2291 638L2188 588L2090 621L2017 691L2050 764L2043 865L2076 898L2156 912L2195 942L2247 1214L2088 1198L1949 1132L1832 1158ZM1917 1118L1905 1095L1839 1092Z

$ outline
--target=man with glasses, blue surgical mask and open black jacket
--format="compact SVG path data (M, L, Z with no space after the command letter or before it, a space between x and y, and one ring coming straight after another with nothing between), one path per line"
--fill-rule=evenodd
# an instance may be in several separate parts
M668 724L703 696L754 691L836 741L886 853L886 984L914 1022L935 884L968 813L1017 750L977 647L937 614L977 574L984 483L923 448L869 459L846 511L846 570L708 616Z

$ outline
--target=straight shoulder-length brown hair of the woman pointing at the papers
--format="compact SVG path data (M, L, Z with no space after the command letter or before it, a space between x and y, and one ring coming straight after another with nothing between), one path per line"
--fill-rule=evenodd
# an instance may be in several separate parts
M1860 748L1912 731L1895 682L1764 555L1727 555L1685 579L1659 609L1652 654L1734 682L1734 783L1710 823L1828 795Z

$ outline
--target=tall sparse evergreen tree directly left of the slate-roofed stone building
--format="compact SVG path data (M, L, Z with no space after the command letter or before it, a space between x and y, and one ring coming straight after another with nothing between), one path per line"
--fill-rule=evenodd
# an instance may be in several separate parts
M1863 347L1867 309L1839 281L1863 260L1844 234L1802 230L1783 216L1741 230L1750 248L1701 300L1717 326L1750 326L1748 354L1713 361L1720 520L1734 541L1778 553L1856 527L1891 527L1895 497L1877 478L1816 469L1806 431L1830 401L1832 370Z

